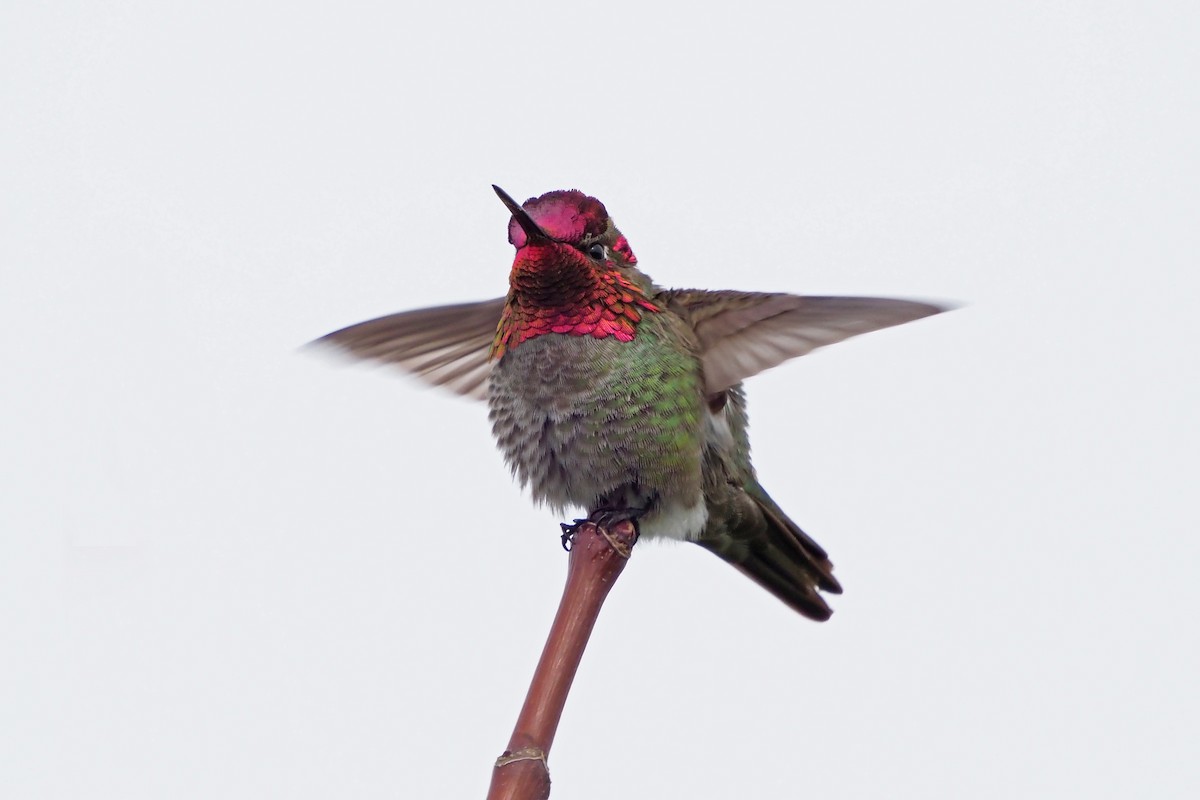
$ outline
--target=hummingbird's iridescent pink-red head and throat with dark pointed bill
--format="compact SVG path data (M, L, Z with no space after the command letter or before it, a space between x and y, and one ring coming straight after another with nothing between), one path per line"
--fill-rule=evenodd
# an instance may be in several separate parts
M604 204L577 190L547 192L517 205L492 186L512 212L509 242L516 247L509 302L492 349L546 333L634 338L654 285Z

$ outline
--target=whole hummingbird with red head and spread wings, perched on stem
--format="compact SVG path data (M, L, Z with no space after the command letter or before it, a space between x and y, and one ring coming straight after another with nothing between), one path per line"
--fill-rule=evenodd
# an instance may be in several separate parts
M556 191L511 211L505 297L323 337L460 395L534 500L716 553L815 620L840 594L826 552L750 464L742 381L858 333L944 311L908 300L660 289L605 206Z

